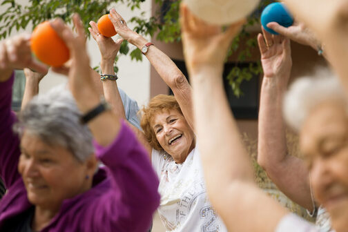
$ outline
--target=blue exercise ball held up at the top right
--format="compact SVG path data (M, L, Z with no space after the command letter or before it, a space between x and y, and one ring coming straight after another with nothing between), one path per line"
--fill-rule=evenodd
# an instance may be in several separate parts
M264 8L261 14L261 24L264 27L264 30L267 30L267 32L273 35L278 35L277 32L271 28L267 28L266 26L267 23L273 21L286 28L293 24L293 17L283 3L269 4L266 8Z

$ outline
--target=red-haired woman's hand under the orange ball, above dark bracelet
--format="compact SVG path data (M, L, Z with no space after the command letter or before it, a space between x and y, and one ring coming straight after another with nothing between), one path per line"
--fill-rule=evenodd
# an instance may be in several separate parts
M88 30L90 31L90 35L92 35L93 39L97 41L101 53L101 59L112 61L115 60L123 39L117 39L115 42L111 37L104 37L100 34L97 23L94 21L90 21L90 28L88 28Z

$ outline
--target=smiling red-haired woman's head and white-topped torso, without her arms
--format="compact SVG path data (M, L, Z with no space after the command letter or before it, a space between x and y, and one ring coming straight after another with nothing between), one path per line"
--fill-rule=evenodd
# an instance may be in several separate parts
M157 95L142 113L141 126L160 178L158 212L166 229L226 231L207 200L195 134L175 97Z

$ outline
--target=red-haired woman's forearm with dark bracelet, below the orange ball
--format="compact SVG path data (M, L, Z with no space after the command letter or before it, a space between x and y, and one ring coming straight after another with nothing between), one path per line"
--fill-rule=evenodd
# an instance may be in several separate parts
M103 74L115 75L113 70L113 60L101 60L100 62L101 72ZM117 117L126 119L126 113L124 112L124 105L122 103L121 96L119 95L119 90L117 88L117 81L104 80L103 82L104 97L106 101L113 108L113 112Z

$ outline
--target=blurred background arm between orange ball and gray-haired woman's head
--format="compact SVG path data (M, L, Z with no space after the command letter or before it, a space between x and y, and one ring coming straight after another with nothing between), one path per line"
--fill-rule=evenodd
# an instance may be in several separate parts
M43 77L46 76L46 72L35 72L30 68L24 68L24 75L26 76L26 87L24 88L24 94L21 104L21 109L26 107L26 104L39 93L39 83Z

